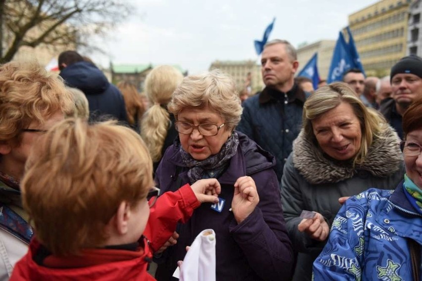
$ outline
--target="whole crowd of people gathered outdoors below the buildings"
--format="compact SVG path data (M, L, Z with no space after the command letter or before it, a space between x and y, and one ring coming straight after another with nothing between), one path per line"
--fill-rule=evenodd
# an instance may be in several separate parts
M58 62L0 65L0 281L177 280L207 229L217 281L421 280L420 57L314 89L273 40L261 92L162 65L148 104Z

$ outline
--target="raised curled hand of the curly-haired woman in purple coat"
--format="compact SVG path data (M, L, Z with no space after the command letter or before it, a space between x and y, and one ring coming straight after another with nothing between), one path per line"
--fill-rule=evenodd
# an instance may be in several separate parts
M240 177L234 184L234 195L231 209L238 224L243 222L254 210L260 201L257 187L251 177Z

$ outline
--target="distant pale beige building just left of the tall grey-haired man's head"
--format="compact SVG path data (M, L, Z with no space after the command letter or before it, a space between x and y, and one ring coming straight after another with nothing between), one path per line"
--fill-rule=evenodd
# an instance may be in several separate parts
M251 75L252 94L260 92L264 88L264 82L261 74L261 65L253 60L241 61L220 61L216 60L211 63L209 70L219 69L232 76L239 92L245 89L248 73Z

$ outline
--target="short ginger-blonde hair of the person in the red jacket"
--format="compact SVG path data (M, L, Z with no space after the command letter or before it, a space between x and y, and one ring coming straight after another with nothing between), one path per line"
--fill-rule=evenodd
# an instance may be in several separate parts
M23 207L37 238L59 256L104 246L119 204L135 207L154 185L144 142L115 121L58 123L40 138L25 168Z

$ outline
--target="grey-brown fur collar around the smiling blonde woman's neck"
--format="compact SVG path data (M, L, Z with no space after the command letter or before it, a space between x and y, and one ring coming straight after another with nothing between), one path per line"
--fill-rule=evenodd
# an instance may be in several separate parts
M305 138L302 129L293 142L293 165L310 184L337 183L352 178L358 170L366 170L376 177L397 172L403 161L397 133L388 126L381 138L374 138L364 163L353 167L351 161L335 161Z

